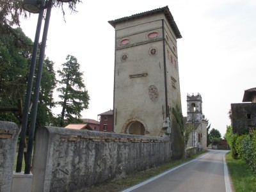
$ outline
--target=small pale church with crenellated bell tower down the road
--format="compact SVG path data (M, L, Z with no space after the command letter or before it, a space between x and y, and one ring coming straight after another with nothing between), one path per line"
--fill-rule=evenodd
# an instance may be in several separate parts
M189 134L188 147L207 148L207 121L202 113L202 96L187 95L187 116L184 117L184 129L188 130L191 126L192 132Z

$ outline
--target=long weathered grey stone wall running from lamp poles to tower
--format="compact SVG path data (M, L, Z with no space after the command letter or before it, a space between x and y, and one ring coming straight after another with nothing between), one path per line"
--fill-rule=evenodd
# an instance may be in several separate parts
M83 191L171 159L167 137L40 127L35 139L32 191Z

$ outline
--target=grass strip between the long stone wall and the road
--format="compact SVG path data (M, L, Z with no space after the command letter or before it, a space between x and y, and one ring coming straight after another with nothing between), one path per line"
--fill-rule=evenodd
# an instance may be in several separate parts
M180 159L177 161L172 161L171 163L162 164L161 166L157 166L157 168L152 168L145 172L135 173L134 175L131 175L131 176L128 176L128 177L125 177L122 179L102 183L97 186L93 186L92 188L88 188L85 191L90 191L90 192L120 191L122 189L129 188L130 186L134 186L134 185L136 185L140 182L143 182L147 179L150 179L151 177L159 175L160 173L163 173L166 170L173 168L174 166L177 166L179 164L186 163L187 161L195 159L196 157L204 154L205 152L207 152L207 150L198 152L198 154L195 154L194 156L191 156L188 159Z

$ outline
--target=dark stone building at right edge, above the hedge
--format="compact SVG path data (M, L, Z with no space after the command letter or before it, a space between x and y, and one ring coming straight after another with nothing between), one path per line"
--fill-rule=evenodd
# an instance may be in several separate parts
M256 130L256 88L244 91L243 102L231 104L233 133L244 134Z

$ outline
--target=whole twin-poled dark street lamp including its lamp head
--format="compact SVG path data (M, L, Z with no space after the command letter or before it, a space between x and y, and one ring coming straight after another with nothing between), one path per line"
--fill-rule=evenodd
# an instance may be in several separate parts
M58 0L64 3L70 2L72 0ZM17 158L17 167L19 165L19 168L16 169L16 172L21 172L21 166L22 166L22 157L24 152L24 143L26 138L26 127L28 124L28 113L29 113L29 102L31 99L31 90L32 90L32 84L33 84L33 75L35 72L35 63L36 63L36 52L38 49L38 39L40 36L40 29L42 25L42 17L44 15L44 9L47 8L46 17L45 17L45 24L44 24L44 33L42 36L42 46L40 49L40 56L39 56L39 62L38 62L38 72L36 74L36 83L35 83L35 93L33 98L33 108L31 113L31 122L29 125L29 141L28 141L28 150L27 150L27 156L26 156L26 166L25 166L25 174L30 173L30 167L31 167L31 157L32 157L32 150L33 150L33 139L35 134L35 123L36 123L36 112L37 112L37 106L38 106L38 97L40 93L40 84L41 84L41 77L42 77L42 68L44 63L44 54L45 54L45 46L46 46L46 40L47 40L47 33L49 28L49 21L51 17L51 8L52 8L52 0L24 0L22 3L22 8L24 10L30 12L30 13L39 13L38 16L38 24L36 28L36 35L35 35L35 42L34 42L34 48L33 48L33 56L31 60L31 68L29 71L29 82L28 82L28 88L26 92L26 102L25 102L25 108L24 108L24 116L22 117L22 130L20 132L20 145L19 145L19 154ZM26 109L26 110L25 110Z

